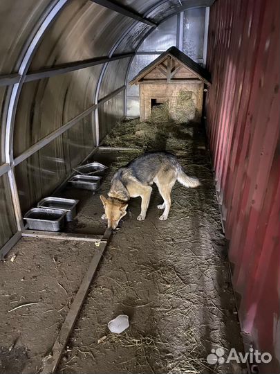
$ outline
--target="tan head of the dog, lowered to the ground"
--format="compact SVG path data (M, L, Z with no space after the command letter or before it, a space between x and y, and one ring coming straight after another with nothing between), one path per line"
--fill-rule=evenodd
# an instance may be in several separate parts
M109 229L117 229L120 219L127 214L127 202L122 202L119 199L113 197L100 196L100 199L104 206L106 220L108 221Z

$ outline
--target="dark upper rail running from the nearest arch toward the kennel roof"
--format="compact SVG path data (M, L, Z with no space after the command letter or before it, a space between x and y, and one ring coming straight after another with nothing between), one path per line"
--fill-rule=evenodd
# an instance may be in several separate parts
M39 80L43 78L50 78L55 75L69 73L70 71L76 71L81 69L86 69L91 66L105 64L106 62L111 62L115 60L121 60L122 58L127 58L133 56L134 53L123 53L121 55L114 55L112 57L95 57L88 60L69 62L68 64L58 64L51 68L40 69L38 71L30 71L26 74L24 82L31 82L32 80ZM1 81L0 81L1 82Z

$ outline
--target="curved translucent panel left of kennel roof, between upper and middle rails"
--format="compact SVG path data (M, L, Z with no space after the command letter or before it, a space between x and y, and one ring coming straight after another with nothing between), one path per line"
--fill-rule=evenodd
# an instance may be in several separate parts
M104 98L104 96L124 85L129 61L130 57L109 62L102 79L98 98Z

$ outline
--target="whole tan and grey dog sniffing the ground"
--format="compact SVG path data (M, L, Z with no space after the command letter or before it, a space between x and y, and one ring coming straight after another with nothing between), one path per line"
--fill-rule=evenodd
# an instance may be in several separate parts
M116 229L120 219L127 214L129 199L140 196L141 213L137 219L144 220L151 197L151 185L155 183L163 199L163 203L158 205L158 209L164 209L160 220L167 220L171 205L171 189L176 181L185 187L200 186L197 178L188 177L183 172L174 154L168 152L142 154L115 173L111 180L109 197L100 196L105 210L102 219L108 220L109 228Z

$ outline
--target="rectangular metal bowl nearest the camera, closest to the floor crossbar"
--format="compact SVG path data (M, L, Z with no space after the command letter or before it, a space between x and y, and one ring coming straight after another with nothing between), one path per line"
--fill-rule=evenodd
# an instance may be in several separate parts
M28 229L59 231L64 227L66 211L60 209L32 208L24 215Z

